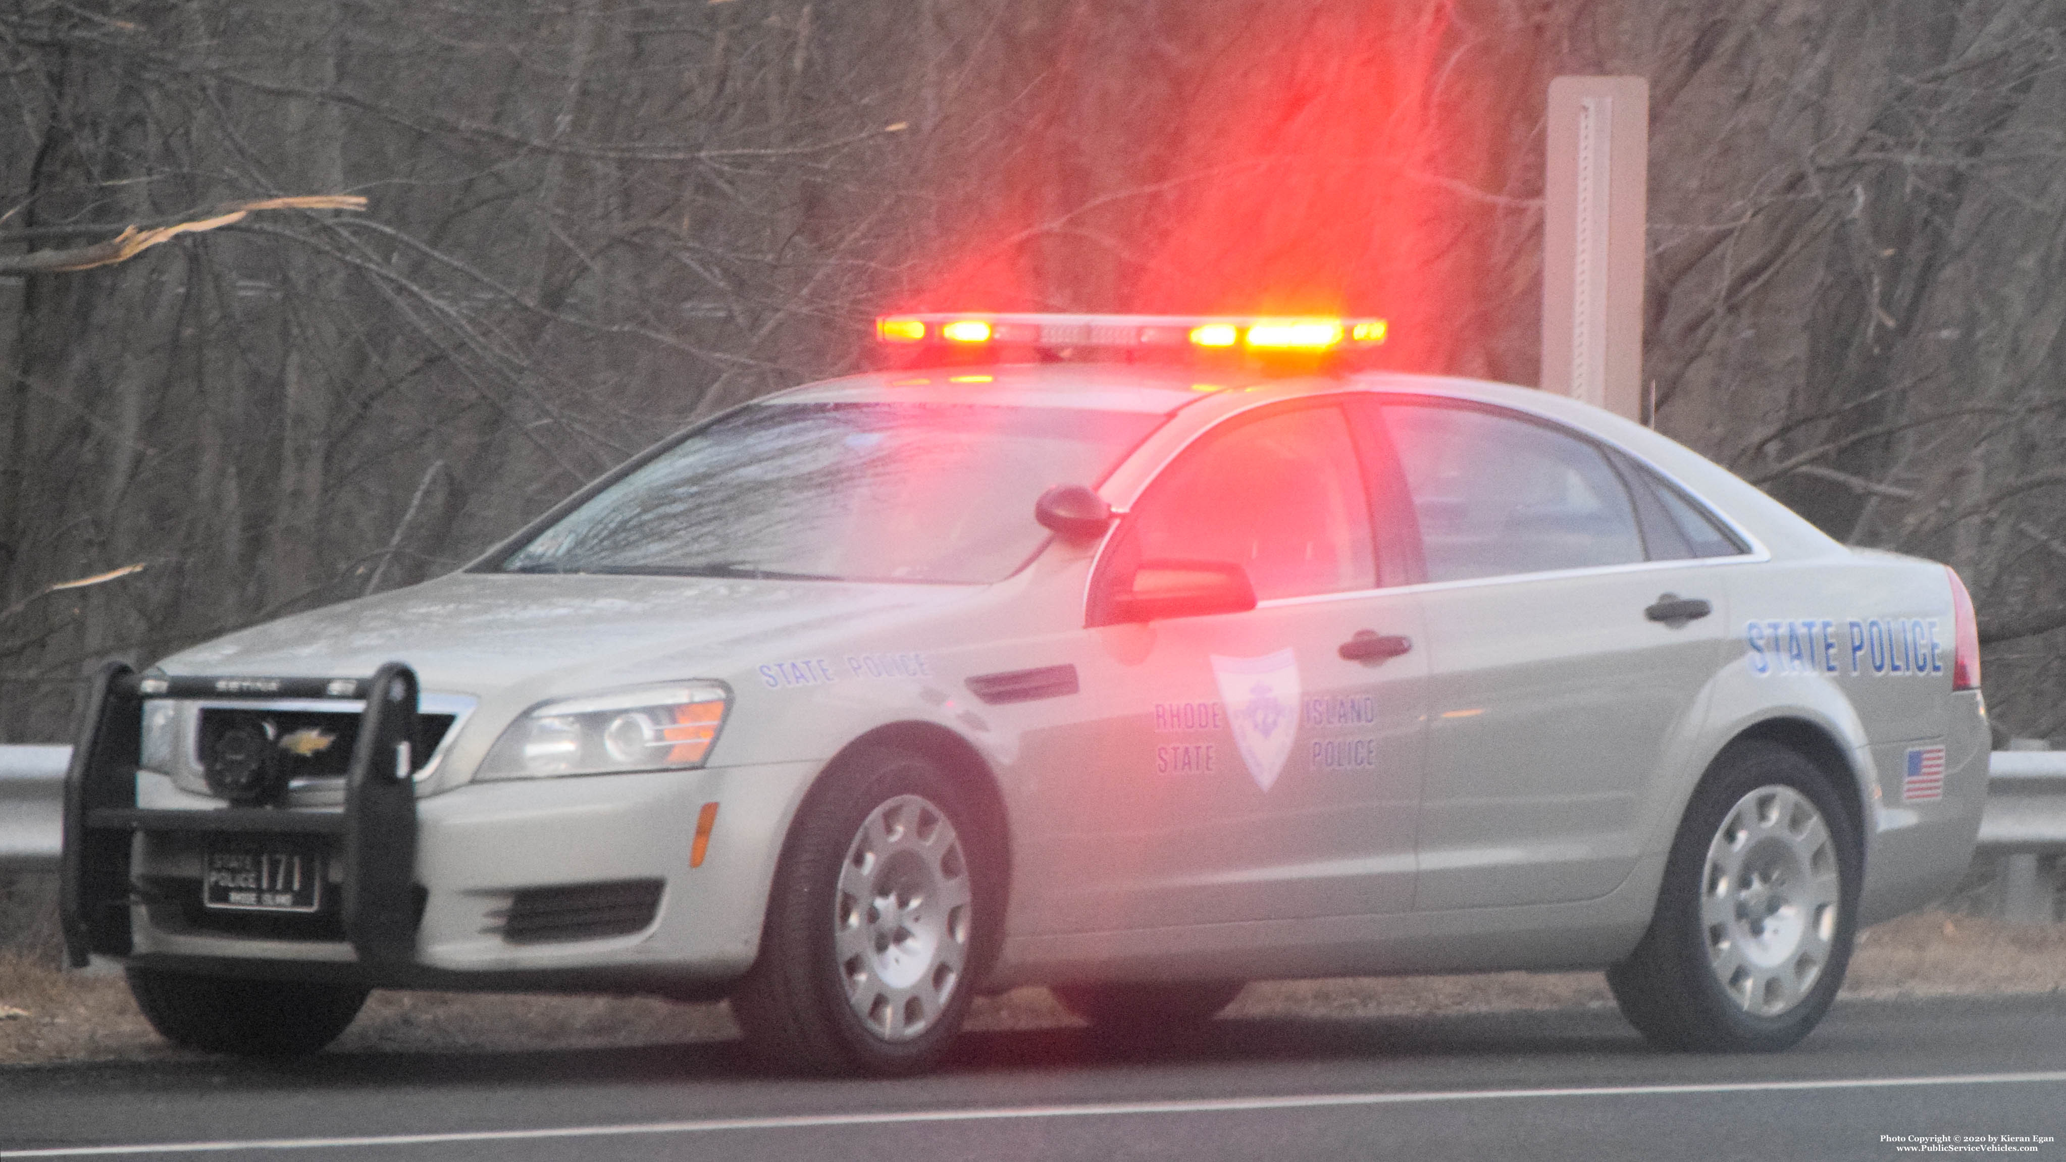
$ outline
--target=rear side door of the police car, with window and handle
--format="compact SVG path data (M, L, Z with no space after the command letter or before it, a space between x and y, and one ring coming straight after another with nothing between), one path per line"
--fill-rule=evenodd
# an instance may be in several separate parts
M1717 561L1742 547L1713 526L1694 547L1645 469L1535 417L1388 400L1384 421L1430 582L1415 908L1603 896L1704 712L1729 623Z

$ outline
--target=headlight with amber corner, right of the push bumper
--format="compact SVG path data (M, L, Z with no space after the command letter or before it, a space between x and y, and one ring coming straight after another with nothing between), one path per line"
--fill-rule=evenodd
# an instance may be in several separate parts
M729 706L731 691L715 681L671 681L541 702L502 731L473 778L702 766Z

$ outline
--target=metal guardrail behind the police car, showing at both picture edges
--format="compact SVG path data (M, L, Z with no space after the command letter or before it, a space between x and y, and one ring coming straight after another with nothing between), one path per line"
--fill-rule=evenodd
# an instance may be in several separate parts
M54 871L72 747L0 747L0 871ZM2049 923L2056 892L2039 861L2066 854L2066 751L1994 751L1979 850L2002 854L2004 912Z

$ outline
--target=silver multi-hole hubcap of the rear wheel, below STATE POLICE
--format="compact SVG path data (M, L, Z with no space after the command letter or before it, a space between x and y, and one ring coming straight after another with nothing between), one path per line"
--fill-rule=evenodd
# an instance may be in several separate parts
M1787 1013L1814 991L1837 939L1843 881L1816 805L1783 784L1738 799L1700 879L1709 968L1740 1009Z

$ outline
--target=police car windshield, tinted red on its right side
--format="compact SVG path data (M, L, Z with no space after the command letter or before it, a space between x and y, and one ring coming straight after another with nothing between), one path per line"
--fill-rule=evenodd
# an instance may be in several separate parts
M994 582L1163 417L795 402L729 413L502 559L502 572Z

